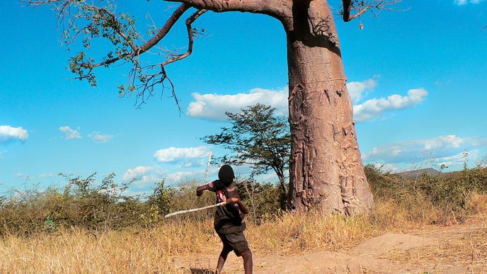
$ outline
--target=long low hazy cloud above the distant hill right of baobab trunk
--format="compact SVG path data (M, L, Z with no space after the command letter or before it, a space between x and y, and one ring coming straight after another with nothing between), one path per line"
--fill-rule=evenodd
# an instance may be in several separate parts
M445 162L445 158L471 150L487 147L487 137L439 136L430 139L413 139L374 147L372 152L363 154L366 162L419 163L420 161ZM475 154L476 155L476 154Z

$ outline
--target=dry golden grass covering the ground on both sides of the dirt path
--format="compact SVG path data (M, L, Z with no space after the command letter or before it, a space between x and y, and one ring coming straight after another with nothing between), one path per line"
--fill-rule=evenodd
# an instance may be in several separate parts
M471 200L471 211L487 212L486 195ZM248 224L246 236L255 253L300 253L347 249L391 230L430 227L413 219L407 208L391 201L377 202L371 217L324 217L319 213L285 214L259 226ZM483 215L479 215L483 216ZM471 260L486 263L487 229L465 239L445 239L438 246L390 253L388 258L408 263ZM215 253L220 249L212 220L175 219L152 229L89 232L65 229L30 237L0 239L0 270L4 273L177 273L172 258ZM459 254L462 255L459 255ZM418 256L419 254L419 256Z

